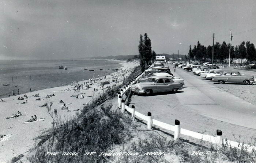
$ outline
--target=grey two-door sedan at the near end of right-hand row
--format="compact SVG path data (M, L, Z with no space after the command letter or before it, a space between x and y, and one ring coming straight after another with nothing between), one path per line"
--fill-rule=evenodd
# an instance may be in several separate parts
M246 85L255 84L254 76L245 76L237 71L223 72L221 75L214 76L213 81L218 81L219 84L228 83L244 83Z

